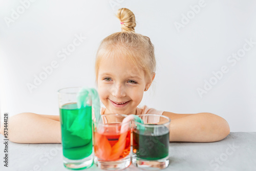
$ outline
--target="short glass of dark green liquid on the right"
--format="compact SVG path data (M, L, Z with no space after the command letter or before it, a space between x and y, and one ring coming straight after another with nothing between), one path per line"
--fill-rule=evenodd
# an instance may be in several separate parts
M137 115L144 123L133 124L133 156L135 166L157 170L169 165L170 119L161 115Z

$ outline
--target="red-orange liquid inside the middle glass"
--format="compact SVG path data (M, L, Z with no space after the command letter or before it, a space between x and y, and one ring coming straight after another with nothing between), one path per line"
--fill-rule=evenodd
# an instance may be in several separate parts
M94 153L98 159L114 161L130 154L131 130L122 134L115 133L114 127L112 130L105 129L103 134L94 132Z

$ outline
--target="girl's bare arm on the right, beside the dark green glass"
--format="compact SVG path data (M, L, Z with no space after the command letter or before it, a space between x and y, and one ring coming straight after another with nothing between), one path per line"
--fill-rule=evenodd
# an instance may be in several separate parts
M230 132L227 121L215 114L164 112L163 115L171 119L170 141L214 142L222 140Z

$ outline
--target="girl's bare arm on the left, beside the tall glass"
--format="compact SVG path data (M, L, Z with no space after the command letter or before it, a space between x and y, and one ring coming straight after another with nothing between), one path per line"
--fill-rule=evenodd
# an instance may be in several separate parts
M1 134L4 126L1 125ZM61 143L59 116L21 113L10 117L8 138L17 143Z

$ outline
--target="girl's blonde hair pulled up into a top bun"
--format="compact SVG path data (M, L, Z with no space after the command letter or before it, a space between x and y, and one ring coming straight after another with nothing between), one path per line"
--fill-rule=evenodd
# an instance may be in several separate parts
M101 41L96 55L95 74L98 80L99 64L102 59L117 57L132 61L137 69L145 73L146 81L150 82L156 70L154 45L147 36L135 33L135 16L132 11L121 8L117 12L121 24L121 32L116 32Z

